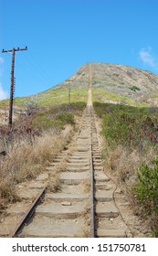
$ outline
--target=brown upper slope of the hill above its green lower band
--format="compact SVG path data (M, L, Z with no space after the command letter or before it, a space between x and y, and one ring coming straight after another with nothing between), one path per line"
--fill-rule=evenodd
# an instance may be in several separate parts
M117 64L84 64L68 80L58 84L54 89L68 88L69 84L72 88L78 89L88 87L90 69L92 88L111 92L109 98L114 93L132 101L157 105L158 76L147 70ZM102 93L104 94L103 91Z

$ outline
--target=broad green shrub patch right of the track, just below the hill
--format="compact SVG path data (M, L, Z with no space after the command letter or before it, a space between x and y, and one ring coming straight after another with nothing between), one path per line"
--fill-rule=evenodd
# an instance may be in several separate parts
M112 147L139 147L158 143L158 112L126 105L109 103L94 104L95 111L102 118L102 134Z

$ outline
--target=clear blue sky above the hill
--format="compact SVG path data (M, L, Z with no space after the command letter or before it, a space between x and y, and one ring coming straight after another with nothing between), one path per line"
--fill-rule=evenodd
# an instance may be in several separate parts
M86 62L158 74L158 1L0 0L0 100L9 97L16 52L16 96L45 91Z

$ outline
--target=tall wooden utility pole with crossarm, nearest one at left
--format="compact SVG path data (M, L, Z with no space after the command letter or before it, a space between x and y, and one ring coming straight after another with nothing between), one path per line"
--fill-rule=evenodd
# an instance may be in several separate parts
M11 86L10 86L10 101L9 101L9 127L12 130L12 119L13 119L13 97L15 91L15 55L16 51L26 50L27 48L12 48L5 50L3 48L2 53L12 52L12 63L11 63Z

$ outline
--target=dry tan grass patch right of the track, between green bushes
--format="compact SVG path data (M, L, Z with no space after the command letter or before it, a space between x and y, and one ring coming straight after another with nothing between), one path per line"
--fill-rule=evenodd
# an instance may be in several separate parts
M142 162L150 165L154 155L156 155L156 151L153 147L142 153L139 150L130 150L118 145L115 150L109 153L104 167L115 183L121 187L121 191L126 194L136 215L138 214L138 207L132 192L132 185L137 181L136 171Z

